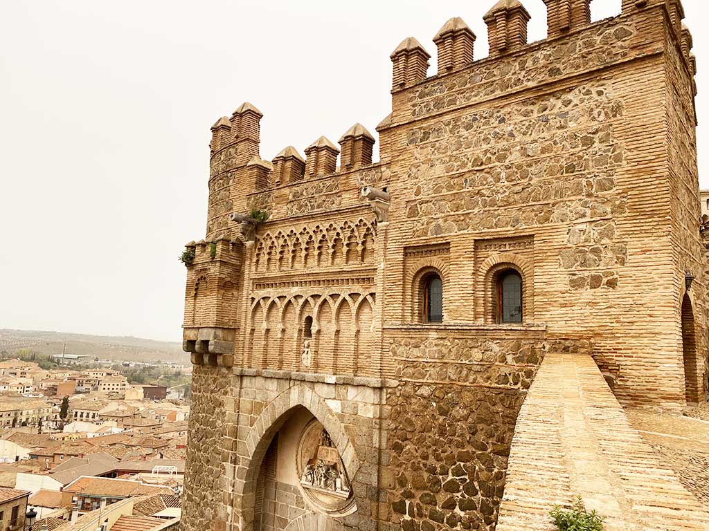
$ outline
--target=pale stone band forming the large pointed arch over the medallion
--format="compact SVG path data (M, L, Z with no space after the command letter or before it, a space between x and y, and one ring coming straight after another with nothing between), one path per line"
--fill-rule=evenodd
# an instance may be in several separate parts
M295 385L279 394L264 408L246 437L245 452L241 455L244 459L243 466L247 469L245 481L238 483L235 488L235 494L242 496L244 505L242 514L250 513L252 515L253 511L247 509L253 507L256 479L262 459L266 455L273 436L288 420L289 413L298 407L310 411L320 421L323 428L328 430L350 479L353 479L357 474L362 463L359 462L357 454L354 452L354 445L333 410L325 403L325 399L313 392L310 387L303 384Z

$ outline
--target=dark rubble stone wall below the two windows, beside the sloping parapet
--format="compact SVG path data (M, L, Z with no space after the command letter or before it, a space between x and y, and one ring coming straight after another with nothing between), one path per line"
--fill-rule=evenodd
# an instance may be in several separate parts
M389 520L405 531L493 530L515 422L547 353L588 343L543 331L399 331L390 341L399 385L384 477Z

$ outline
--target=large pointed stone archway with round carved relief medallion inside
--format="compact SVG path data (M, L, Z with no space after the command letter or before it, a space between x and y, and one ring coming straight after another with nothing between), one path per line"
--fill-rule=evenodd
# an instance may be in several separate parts
M315 511L318 529L327 529L320 525L357 510L354 477L361 463L333 411L311 389L298 386L273 399L244 450L245 479L235 488L243 528L267 530L280 516L284 529ZM285 501L289 507L277 510Z

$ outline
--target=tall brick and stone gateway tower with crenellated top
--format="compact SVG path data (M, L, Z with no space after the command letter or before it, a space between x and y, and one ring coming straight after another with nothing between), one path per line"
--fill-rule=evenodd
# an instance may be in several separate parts
M433 76L403 40L378 162L360 124L272 161L254 105L213 125L206 237L183 255L184 531L526 529L502 520L587 488L508 489L544 389L560 404L578 378L603 411L705 399L681 3L623 0L594 23L590 0L545 4L532 44L519 1L493 6L479 61L450 19ZM618 518L642 513L623 499Z

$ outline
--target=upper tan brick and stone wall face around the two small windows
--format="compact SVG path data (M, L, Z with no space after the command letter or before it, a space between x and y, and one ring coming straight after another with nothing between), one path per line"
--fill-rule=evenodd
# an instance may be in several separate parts
M394 93L380 132L392 150L382 154L391 162L387 266L403 275L388 276L387 323L411 319L401 308L420 267L406 263L414 246L450 246L440 259L444 313L484 324L489 312L476 308L492 287L471 253L486 240L532 241L526 256L513 249L485 263L527 270L526 319L593 338L626 403L681 408L679 366L674 384L659 384L666 353L681 352L664 237L668 154L657 142L666 135L665 19L664 8L648 8Z

